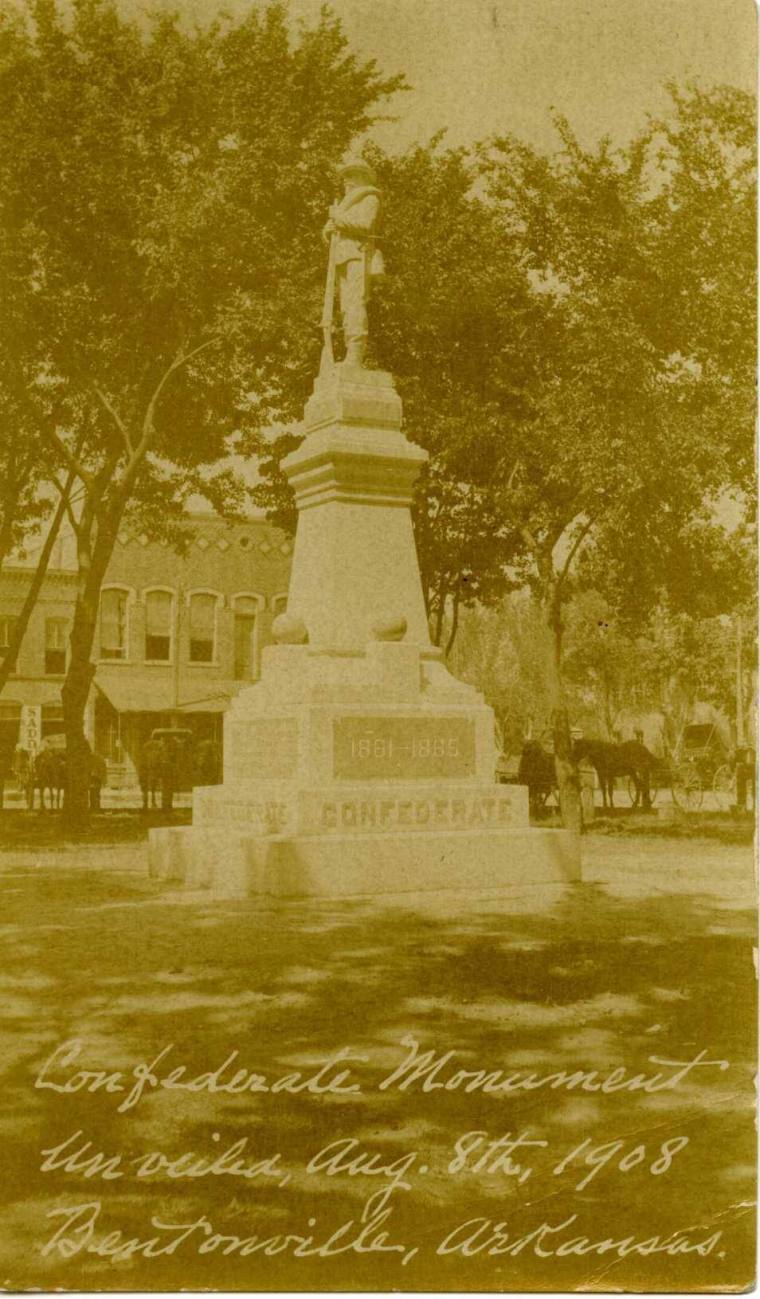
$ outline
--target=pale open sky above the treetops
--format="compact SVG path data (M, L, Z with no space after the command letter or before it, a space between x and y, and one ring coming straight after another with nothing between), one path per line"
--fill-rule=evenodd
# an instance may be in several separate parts
M221 0L174 0L210 17ZM256 0L262 3L262 0ZM294 19L322 0L290 0ZM226 0L239 12L246 0ZM556 143L552 113L581 142L630 139L668 103L664 83L694 78L752 90L752 0L331 0L351 45L412 90L373 135L395 152L446 127L452 144L496 132Z

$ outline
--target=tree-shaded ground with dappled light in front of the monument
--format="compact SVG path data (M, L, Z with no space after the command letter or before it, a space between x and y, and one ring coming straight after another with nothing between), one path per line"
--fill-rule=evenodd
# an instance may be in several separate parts
M116 821L108 825L118 839ZM268 909L161 894L147 878L134 822L121 829L121 842L97 842L94 830L91 842L56 850L52 839L25 843L19 831L1 859L6 1207L0 1276L6 1285L748 1285L755 914L747 846L595 833L585 840L581 886L500 898L407 898L404 907L387 899ZM425 1050L455 1052L443 1078L479 1066L542 1076L620 1065L651 1074L652 1056L686 1061L703 1048L707 1059L725 1059L730 1068L696 1068L679 1087L651 1095L379 1089L407 1055L401 1039L408 1034ZM368 1059L353 1064L361 1090L349 1095L148 1089L133 1109L118 1113L118 1092L35 1089L43 1063L70 1039L83 1043L81 1056L53 1070L58 1085L79 1066L131 1073L169 1043L166 1070L186 1064L188 1077L216 1069L235 1048L233 1072L243 1065L269 1081L294 1069L307 1077L342 1047ZM121 1152L123 1176L42 1173L40 1151L77 1131L75 1144L91 1142L88 1155ZM533 1169L522 1183L504 1169L448 1172L457 1138L469 1131L491 1139L525 1134L547 1146L514 1155L522 1172ZM681 1135L689 1144L672 1167L650 1172L661 1143ZM129 1163L148 1151L217 1154L242 1138L249 1163L279 1154L281 1172L252 1179L171 1178L164 1168L139 1181ZM394 1178L308 1173L309 1160L339 1138L360 1143L353 1154L382 1154L386 1168L414 1156L405 1177L411 1189L391 1192L383 1225L386 1244L400 1243L403 1252L295 1259L292 1250L273 1247L269 1255L243 1257L225 1255L218 1244L199 1254L205 1239L199 1229L177 1252L153 1259L113 1261L84 1250L69 1259L42 1256L40 1246L64 1225L47 1215L96 1200L103 1207L94 1241L117 1229L144 1241L157 1230L152 1216L191 1224L205 1215L227 1237L290 1231L323 1242ZM642 1144L646 1155L631 1157L635 1167L627 1172L611 1159L578 1189L594 1172L583 1164L589 1147L561 1172L553 1169L586 1138L594 1148L621 1139L617 1163ZM469 1218L505 1222L517 1239L572 1215L572 1225L544 1238L555 1241L553 1248L578 1235L643 1241L682 1231L698 1242L721 1230L722 1237L704 1257L540 1257L533 1244L517 1255L437 1252ZM84 1234L70 1239L83 1243Z

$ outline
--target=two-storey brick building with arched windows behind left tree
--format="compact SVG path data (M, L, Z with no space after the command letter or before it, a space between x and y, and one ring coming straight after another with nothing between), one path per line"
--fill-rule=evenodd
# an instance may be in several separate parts
M256 681L272 620L285 608L291 542L257 518L187 518L178 552L125 526L103 585L95 685L87 734L109 765L112 785L133 785L142 744L157 726L179 725L221 740L222 716L243 685ZM0 573L0 652L30 578L26 564ZM62 538L0 695L3 750L62 730L77 573Z

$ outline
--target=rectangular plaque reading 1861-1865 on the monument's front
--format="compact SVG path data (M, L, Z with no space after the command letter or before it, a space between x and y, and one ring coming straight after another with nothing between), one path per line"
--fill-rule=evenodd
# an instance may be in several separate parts
M475 772L475 724L466 717L339 717L336 779L457 779Z

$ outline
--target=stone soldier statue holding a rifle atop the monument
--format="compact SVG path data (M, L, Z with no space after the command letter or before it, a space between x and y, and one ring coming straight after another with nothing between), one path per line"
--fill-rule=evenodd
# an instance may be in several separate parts
M344 194L330 208L330 217L322 238L330 244L325 309L322 312L321 372L334 364L333 307L335 292L343 323L346 344L344 364L361 369L366 351L366 300L372 281L383 274L383 259L375 246L375 226L379 213L379 190L375 174L364 158L349 158L338 168L343 178Z

